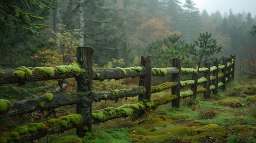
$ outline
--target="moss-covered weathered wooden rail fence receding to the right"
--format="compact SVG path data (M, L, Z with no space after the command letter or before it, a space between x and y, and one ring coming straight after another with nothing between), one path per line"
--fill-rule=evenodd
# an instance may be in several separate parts
M78 136L90 132L93 123L127 117L143 111L146 108L156 108L159 105L172 102L172 107L180 106L180 98L195 99L196 94L203 92L205 98L210 98L210 92L217 94L219 88L225 89L226 83L234 78L235 55L225 58L220 65L214 62L205 63L203 68L182 68L181 59L173 58L172 67L152 68L151 57L141 57L141 65L137 67L115 69L92 69L92 55L94 50L88 47L77 48L77 62L69 66L56 67L19 67L12 70L0 70L0 84L19 83L66 79L75 77L78 91L71 94L45 94L39 98L10 102L0 100L0 117L32 113L33 111L57 108L64 105L76 104L76 114L50 119L47 122L29 123L19 126L0 135L4 142L26 142L42 138L53 133L76 128ZM181 80L181 74L192 74L191 80ZM171 74L171 81L161 85L152 86L152 76L167 76ZM201 74L203 74L201 76ZM112 91L92 92L92 80L123 79L127 77L140 77L138 86L132 89L114 89ZM201 85L199 88L198 85ZM180 91L186 86L190 90ZM151 94L171 89L168 97L150 100ZM109 107L92 111L92 102L101 100L116 100L118 98L136 97L138 102L126 104L121 107Z

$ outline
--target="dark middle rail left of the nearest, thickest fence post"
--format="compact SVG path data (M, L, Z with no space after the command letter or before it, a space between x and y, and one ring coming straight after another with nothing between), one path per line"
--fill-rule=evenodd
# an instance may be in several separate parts
M57 108L64 105L72 105L81 102L81 96L85 96L83 92L75 92L72 94L56 94L53 100L48 101L44 97L33 98L31 100L21 100L12 102L12 107L7 111L0 113L0 118L32 113L33 111L46 110L49 108ZM90 98L85 100L90 101ZM44 107L40 107L39 103L45 102Z

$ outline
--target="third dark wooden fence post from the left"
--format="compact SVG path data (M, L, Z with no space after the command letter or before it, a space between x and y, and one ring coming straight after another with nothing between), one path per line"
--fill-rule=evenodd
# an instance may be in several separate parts
M181 59L173 58L172 59L172 67L178 68L178 73L171 74L171 82L178 82L178 85L173 87L171 92L172 94L177 95L176 100L172 100L172 107L180 107L180 70L181 70Z

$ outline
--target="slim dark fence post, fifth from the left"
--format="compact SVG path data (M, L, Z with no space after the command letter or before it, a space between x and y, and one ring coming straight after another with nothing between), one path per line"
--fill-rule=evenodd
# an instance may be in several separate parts
M211 63L205 62L205 66L204 67L209 69L208 71L205 71L205 73L204 73L204 76L207 79L207 82L204 83L204 87L206 88L206 92L203 93L203 97L205 97L207 99L207 98L210 98L210 83L211 83L211 79L210 79L211 71L210 71L210 68L211 68Z

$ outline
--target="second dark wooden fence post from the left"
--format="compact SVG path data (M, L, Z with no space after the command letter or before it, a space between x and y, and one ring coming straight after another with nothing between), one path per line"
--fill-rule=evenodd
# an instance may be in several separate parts
M146 68L146 76L140 77L139 86L144 86L146 88L146 92L143 95L138 96L138 101L142 101L144 99L150 100L151 98L151 77L152 77L152 63L151 56L147 56L144 58L141 56L141 66Z

